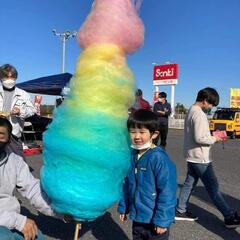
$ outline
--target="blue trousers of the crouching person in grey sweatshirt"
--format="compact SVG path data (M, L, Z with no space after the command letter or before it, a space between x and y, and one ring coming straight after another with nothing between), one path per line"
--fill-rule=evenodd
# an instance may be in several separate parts
M1 240L24 240L23 235L16 230L9 230L6 227L0 226L0 239ZM42 233L38 230L36 240L45 240Z

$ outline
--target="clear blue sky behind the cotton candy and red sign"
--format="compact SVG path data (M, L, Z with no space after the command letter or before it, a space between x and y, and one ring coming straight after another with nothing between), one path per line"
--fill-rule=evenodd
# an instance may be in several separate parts
M62 44L51 30L78 31L92 2L2 1L0 64L15 65L19 82L60 73ZM190 106L199 89L211 86L220 93L220 106L228 106L230 88L240 87L239 13L239 0L144 0L140 17L145 24L145 43L128 57L144 97L152 101L152 63L169 61L179 64L175 103ZM80 52L76 39L70 39L66 71L74 72ZM161 90L170 93L170 87Z

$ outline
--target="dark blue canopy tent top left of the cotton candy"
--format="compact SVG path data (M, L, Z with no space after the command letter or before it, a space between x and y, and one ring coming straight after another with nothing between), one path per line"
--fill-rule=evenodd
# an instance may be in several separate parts
M71 78L71 73L61 73L18 83L17 87L30 93L60 96Z

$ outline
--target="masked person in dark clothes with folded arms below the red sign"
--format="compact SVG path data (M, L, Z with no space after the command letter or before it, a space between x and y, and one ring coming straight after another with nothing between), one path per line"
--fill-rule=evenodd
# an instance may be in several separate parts
M168 134L168 117L171 114L171 105L167 102L167 94L160 92L158 94L158 102L154 104L153 112L158 116L159 120L159 132L160 132L160 145L163 149L167 145L167 134Z

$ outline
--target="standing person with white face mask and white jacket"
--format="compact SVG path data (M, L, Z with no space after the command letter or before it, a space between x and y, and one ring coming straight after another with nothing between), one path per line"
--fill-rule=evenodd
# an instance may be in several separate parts
M36 109L30 95L15 86L17 77L14 66L4 64L0 67L0 114L7 116L13 127L9 150L24 157L21 141L24 119L34 115Z

